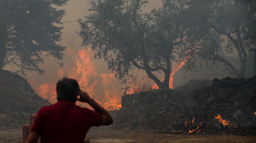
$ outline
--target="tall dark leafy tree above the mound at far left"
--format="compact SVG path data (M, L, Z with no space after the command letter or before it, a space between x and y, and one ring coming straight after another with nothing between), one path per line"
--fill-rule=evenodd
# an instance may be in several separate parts
M45 57L62 59L60 41L64 10L56 7L66 5L68 0L0 0L0 70L15 65L19 73L36 71ZM59 63L62 66L62 63Z

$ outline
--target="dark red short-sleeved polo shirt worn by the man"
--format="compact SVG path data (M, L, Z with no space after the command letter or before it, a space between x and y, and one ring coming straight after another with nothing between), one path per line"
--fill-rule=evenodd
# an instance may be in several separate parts
M41 135L42 143L83 143L89 128L99 126L102 119L95 111L61 100L38 111L31 131Z

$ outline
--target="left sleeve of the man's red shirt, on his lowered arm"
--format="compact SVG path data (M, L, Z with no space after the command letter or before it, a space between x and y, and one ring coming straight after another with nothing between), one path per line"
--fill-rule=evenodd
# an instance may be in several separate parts
M42 131L43 131L43 108L39 109L30 131L36 132L37 134L42 133Z

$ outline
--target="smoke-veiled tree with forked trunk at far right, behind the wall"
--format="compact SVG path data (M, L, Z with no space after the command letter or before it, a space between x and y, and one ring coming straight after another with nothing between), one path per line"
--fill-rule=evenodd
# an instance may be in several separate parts
M237 77L244 77L247 51L256 38L248 36L250 30L255 29L255 11L236 0L198 0L189 1L187 5L188 19L194 21L188 37L197 45L191 51L203 60L225 63ZM196 16L191 17L193 15ZM238 53L240 69L225 58L234 51Z

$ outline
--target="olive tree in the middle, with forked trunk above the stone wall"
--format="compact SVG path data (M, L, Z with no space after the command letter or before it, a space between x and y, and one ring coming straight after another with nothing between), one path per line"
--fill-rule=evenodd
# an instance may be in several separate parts
M91 45L119 80L134 68L144 70L159 88L169 88L172 61L183 43L185 27L176 2L142 13L147 0L104 0L94 3L86 21L80 21L83 45ZM155 72L165 74L160 81Z

